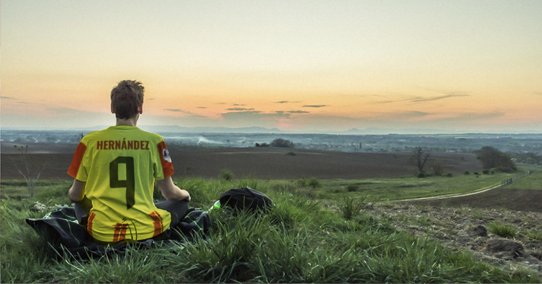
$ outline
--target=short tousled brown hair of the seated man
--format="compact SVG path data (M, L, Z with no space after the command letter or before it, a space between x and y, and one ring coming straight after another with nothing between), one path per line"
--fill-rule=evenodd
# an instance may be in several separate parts
M143 105L145 87L135 80L123 80L111 90L111 104L115 116L120 119L132 118Z

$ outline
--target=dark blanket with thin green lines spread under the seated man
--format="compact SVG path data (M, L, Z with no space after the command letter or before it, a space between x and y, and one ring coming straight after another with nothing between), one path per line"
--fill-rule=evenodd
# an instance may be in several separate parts
M110 251L122 251L128 247L150 248L196 242L198 239L206 239L211 228L211 220L207 212L191 208L176 227L170 228L172 231L168 240L146 240L116 246L100 246L92 240L86 228L77 222L73 207L57 208L43 218L28 218L26 221L56 251L64 253L67 251L68 254L64 254L67 257L83 259L89 256L101 256Z

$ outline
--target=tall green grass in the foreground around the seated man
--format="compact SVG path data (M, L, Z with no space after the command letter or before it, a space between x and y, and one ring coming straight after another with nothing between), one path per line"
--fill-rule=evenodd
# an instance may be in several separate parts
M441 177L442 178L442 177ZM455 178L455 177L454 177ZM458 178L459 179L459 178ZM408 184L414 180L406 179ZM433 180L424 182L434 183ZM273 199L266 215L211 212L208 241L127 250L88 260L63 259L24 218L41 217L31 204L69 204L69 183L41 184L33 198L11 198L24 187L2 181L1 282L540 282L452 251L436 241L397 231L351 192L346 218L309 189L285 180L182 179L192 206L209 208L229 188L250 186ZM325 183L322 182L322 183ZM11 187L12 186L12 187ZM6 189L7 188L7 189ZM424 187L425 188L425 187ZM314 191L318 191L315 193ZM340 200L340 199L337 199ZM373 201L367 197L367 201ZM328 206L328 207L326 207ZM337 206L336 203L334 206Z

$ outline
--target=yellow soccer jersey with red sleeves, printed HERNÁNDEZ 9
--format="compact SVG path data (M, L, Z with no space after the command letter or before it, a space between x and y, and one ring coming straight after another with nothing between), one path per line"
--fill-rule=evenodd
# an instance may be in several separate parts
M152 200L154 180L173 174L162 136L126 125L89 133L68 174L86 182L87 230L96 240L145 240L169 228L171 215Z

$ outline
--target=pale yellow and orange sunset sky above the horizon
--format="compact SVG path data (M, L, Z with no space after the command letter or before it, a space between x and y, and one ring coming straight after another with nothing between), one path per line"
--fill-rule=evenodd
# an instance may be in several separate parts
M1 127L542 132L542 1L2 0Z

